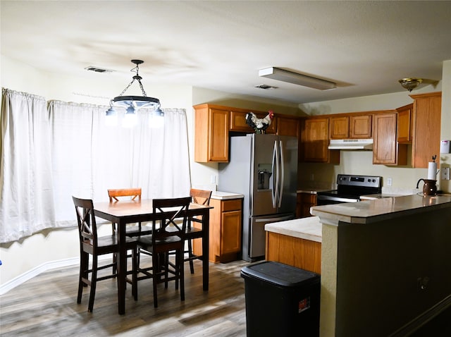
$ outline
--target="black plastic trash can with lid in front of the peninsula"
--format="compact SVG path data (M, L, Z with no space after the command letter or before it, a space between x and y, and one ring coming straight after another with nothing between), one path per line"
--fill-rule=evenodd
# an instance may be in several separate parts
M319 336L319 274L264 261L242 268L241 277L247 337Z

